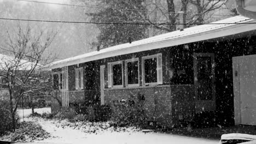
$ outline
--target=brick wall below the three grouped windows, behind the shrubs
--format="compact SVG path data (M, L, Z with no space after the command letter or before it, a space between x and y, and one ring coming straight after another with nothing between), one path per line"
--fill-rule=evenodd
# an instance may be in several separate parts
M115 100L128 99L130 95L138 93L145 97L142 109L146 111L149 121L155 115L156 121L162 126L173 127L179 122L179 113L194 111L193 86L190 85L105 89L104 100L106 104L112 105Z

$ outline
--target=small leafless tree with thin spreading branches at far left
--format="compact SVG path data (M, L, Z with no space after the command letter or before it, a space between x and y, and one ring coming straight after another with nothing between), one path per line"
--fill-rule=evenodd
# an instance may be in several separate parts
M10 112L13 120L13 130L15 130L15 113L20 99L26 94L40 93L49 88L50 77L40 76L40 67L53 61L53 58L43 57L44 52L55 38L56 33L39 32L34 34L30 26L22 29L18 26L18 31L11 35L1 49L8 52L10 57L5 57L0 63L1 75L8 86L10 97ZM50 85L51 86L51 85Z

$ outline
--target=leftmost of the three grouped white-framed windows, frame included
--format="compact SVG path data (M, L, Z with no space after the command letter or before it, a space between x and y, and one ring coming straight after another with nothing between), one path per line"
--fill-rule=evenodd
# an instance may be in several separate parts
M123 61L108 63L108 87L123 87Z

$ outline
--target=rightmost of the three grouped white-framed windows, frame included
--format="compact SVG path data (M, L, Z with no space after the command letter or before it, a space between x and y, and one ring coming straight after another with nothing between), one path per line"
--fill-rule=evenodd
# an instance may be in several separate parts
M143 85L162 84L162 53L142 57Z

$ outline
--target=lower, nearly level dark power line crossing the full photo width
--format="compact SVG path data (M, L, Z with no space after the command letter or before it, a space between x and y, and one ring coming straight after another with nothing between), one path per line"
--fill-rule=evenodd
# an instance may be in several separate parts
M57 23L84 23L84 24L105 24L105 25L243 25L243 24L256 24L256 22L228 22L228 23L141 23L141 22L83 22L83 21L51 21L51 20L29 20L29 19L11 19L0 17L0 20L13 20L13 21L34 21L34 22L57 22ZM251 20L246 19L244 21ZM240 21L242 22L242 21Z

